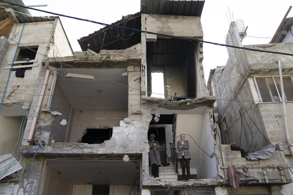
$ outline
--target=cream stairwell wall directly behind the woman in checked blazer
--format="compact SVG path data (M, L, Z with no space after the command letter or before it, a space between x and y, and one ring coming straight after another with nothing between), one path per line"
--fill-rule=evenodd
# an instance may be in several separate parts
M203 115L192 115L192 114L177 114L176 119L176 135L175 139L175 147L177 148L177 141L180 140L180 133L186 133L193 137L193 139L197 142L197 144L201 141L201 133L202 133L202 126L203 126ZM194 143L194 141L188 136L185 136L185 139L189 141L190 145L190 168L199 168L198 165L198 154L199 148Z

